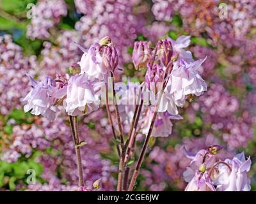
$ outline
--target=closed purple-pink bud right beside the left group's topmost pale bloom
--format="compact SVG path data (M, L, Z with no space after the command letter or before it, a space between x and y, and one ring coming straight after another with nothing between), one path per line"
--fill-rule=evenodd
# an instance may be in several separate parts
M118 54L115 47L103 46L102 52L102 66L109 71L114 71L118 65Z

